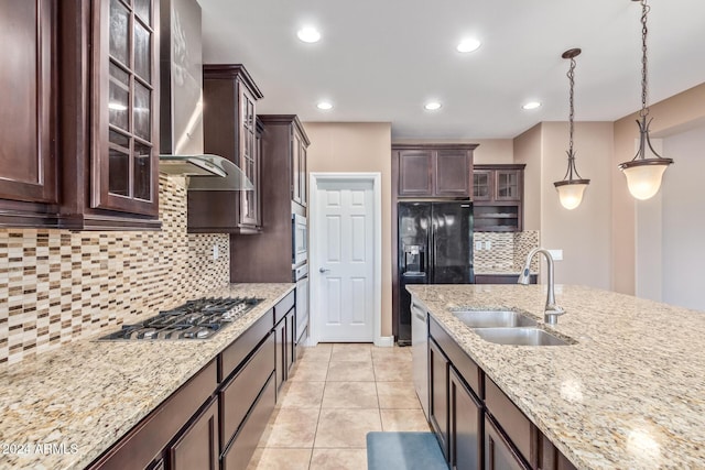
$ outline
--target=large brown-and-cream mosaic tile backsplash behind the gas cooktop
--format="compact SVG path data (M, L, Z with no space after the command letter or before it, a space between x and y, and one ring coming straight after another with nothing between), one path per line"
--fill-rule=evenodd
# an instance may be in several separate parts
M0 229L0 367L228 284L229 238L186 232L183 177L160 175L160 219L161 231Z

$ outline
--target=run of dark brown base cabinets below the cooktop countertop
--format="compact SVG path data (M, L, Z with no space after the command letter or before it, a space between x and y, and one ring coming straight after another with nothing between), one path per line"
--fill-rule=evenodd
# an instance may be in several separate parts
M295 307L292 291L87 468L245 470L294 360L275 359L275 318L293 328Z

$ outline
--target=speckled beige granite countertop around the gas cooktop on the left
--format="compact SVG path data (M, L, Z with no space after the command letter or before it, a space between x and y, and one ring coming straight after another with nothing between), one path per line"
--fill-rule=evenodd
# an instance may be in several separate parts
M10 365L0 372L0 469L83 469L294 287L232 284L213 291L209 296L263 302L207 340L95 341L112 326Z

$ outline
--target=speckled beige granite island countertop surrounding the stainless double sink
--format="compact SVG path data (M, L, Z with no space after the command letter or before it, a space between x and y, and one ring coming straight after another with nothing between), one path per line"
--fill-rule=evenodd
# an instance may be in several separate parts
M556 286L560 347L484 341L451 310L505 307L543 320L545 285L408 289L578 469L705 468L705 313Z

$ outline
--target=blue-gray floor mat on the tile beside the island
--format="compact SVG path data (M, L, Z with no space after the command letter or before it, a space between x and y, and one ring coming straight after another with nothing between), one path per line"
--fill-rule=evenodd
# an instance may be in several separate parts
M368 470L447 470L433 433L368 433Z

